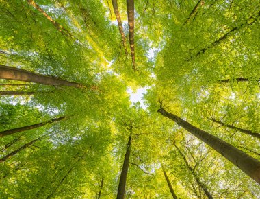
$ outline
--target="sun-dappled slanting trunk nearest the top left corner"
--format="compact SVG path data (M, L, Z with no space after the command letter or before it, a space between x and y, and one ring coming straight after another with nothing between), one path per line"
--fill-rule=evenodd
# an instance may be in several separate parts
M69 36L70 38L74 38L74 36L72 34L70 34L70 32L68 32L68 30L66 30L62 25L60 25L60 23L57 23L57 21L54 21L51 16L49 16L46 12L44 12L44 10L42 10L42 8L40 8L40 6L35 3L33 0L27 0L27 3L29 5L32 5L34 8L36 8L36 10L38 10L39 12L41 12L44 17L51 21L51 23L56 27L56 29L61 32L62 34Z

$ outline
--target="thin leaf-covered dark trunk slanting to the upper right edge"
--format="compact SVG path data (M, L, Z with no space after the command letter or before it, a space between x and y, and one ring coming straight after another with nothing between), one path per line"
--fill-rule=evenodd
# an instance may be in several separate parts
M216 45L220 44L222 42L222 40L226 39L229 35L231 35L233 32L240 30L242 27L245 27L247 25L252 25L253 23L255 23L257 21L257 16L260 16L260 12L256 14L256 16L250 16L250 18L248 18L246 20L245 23L243 23L242 25L237 25L236 27L233 27L231 30L229 30L229 32L226 32L226 34L224 34L223 36L221 36L220 38L218 38L218 40L215 40L213 43L211 43L210 45L208 45L207 47L200 49L200 51L198 51L197 54L195 54L194 56L192 56L189 60L192 60L194 57L205 53L205 51L207 51L207 49L210 49L211 47L215 47Z

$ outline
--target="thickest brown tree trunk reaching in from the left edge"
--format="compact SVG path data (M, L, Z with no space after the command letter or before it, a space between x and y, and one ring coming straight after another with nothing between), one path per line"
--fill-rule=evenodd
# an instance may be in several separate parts
M75 88L87 88L91 90L98 90L97 86L83 85L76 82L68 82L59 78L40 75L23 69L17 69L15 67L8 67L4 65L0 65L0 79L34 82L38 84L52 86L73 86Z

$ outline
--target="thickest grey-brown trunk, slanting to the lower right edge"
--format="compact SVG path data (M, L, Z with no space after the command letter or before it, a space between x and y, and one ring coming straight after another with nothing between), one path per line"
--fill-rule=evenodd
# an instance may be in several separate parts
M260 162L256 159L252 158L242 150L239 150L233 145L226 143L222 139L219 139L200 128L196 128L192 124L187 121L181 119L177 115L173 115L172 113L168 113L164 108L160 108L158 110L161 115L164 117L168 117L175 121L179 126L183 127L188 132L194 134L198 139L207 143L207 145L211 146L214 150L222 154L226 159L231 161L234 165L239 167L243 172L245 172L250 178L255 180L260 184Z

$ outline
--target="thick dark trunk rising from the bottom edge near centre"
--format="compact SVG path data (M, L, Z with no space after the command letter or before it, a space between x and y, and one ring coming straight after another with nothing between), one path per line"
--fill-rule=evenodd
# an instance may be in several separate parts
M127 152L125 153L125 159L122 165L122 172L120 175L120 180L118 185L118 195L116 196L116 199L123 199L125 196L125 185L127 184L127 171L129 167L129 159L130 159L130 152L131 152L131 140L132 140L132 136L130 135L127 143Z

